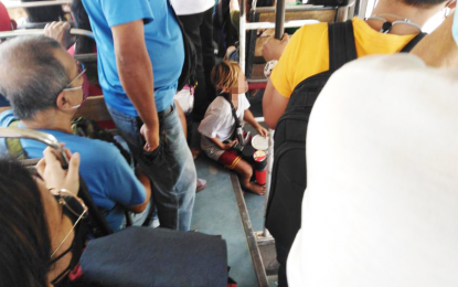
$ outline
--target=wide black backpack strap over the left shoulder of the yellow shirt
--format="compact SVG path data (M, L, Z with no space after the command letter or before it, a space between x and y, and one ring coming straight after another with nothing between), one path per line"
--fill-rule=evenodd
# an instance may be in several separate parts
M335 71L356 59L352 20L328 24L328 39L329 71Z

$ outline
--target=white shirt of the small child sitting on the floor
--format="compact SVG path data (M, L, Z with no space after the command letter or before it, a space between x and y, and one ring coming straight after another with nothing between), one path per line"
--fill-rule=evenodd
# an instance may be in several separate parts
M239 94L236 115L241 121L248 108L249 102L245 94ZM231 104L222 96L217 96L206 109L198 130L207 138L217 137L220 140L226 140L232 136L234 123Z

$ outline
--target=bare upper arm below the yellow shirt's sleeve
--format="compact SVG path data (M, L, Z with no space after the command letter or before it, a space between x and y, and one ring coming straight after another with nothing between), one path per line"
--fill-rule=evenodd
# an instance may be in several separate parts
M280 93L275 89L274 84L269 78L263 97L263 115L266 120L266 125L269 128L275 129L278 119L285 113L288 100L288 98L281 96Z

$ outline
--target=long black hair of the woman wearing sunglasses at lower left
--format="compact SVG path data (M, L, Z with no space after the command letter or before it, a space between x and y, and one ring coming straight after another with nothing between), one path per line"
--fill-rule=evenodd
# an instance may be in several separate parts
M41 192L20 163L0 159L0 283L46 287L51 238Z

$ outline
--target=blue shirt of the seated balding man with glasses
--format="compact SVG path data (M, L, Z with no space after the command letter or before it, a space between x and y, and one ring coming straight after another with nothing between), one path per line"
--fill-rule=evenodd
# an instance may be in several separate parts
M0 127L8 127L15 120L12 109L0 114ZM72 152L79 152L79 173L84 179L94 203L105 210L108 225L118 231L125 219L121 206L143 203L146 191L141 182L130 169L126 159L111 144L83 138L58 130L41 129L53 135ZM21 146L31 159L42 158L44 144L35 140L21 139ZM8 152L6 140L0 139L0 155Z

